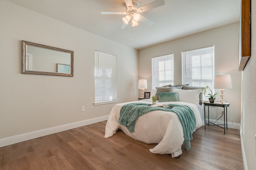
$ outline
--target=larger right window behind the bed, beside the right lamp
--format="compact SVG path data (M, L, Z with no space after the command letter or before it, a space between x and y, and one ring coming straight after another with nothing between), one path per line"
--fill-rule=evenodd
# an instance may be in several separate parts
M213 90L214 46L182 51L182 84ZM213 92L214 93L214 92ZM207 100L203 96L204 100Z

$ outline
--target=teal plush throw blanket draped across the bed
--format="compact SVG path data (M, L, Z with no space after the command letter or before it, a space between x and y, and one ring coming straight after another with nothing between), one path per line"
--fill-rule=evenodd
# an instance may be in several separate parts
M154 110L163 110L167 112L174 112L180 119L180 123L183 127L184 141L186 150L190 149L190 140L193 139L192 133L196 126L195 114L190 107L186 105L172 105L172 109L166 109L163 107L149 107L147 103L130 103L122 106L120 110L120 117L118 122L120 125L127 127L129 132L134 132L135 120Z

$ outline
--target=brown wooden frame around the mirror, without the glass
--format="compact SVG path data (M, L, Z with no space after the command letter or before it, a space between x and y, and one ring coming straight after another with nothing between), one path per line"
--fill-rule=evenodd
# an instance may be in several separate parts
M42 44L38 44L38 43L33 43L33 42L27 42L27 41L21 41L22 43L22 50L21 50L21 73L22 74L40 74L40 75L49 75L49 76L69 76L69 77L73 77L73 65L74 65L74 51L70 51L70 50L65 50L65 49L60 49L57 47L51 47L48 45L42 45ZM68 73L60 73L60 72L43 72L43 71L29 71L26 70L26 56L27 56L27 45L33 46L33 47L39 47L39 48L43 48L43 49L50 49L50 50L54 50L54 51L60 51L60 52L66 52L66 53L70 53L70 74Z

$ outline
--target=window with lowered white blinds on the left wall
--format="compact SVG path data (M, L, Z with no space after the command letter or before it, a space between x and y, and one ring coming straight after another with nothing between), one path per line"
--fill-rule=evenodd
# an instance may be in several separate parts
M117 56L95 51L95 103L117 102Z

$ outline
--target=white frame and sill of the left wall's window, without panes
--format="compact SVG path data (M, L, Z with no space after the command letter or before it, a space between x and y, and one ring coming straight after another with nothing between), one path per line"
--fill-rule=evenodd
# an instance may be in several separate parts
M107 56L113 56L113 57L115 57L115 63L114 63L114 65L111 65L110 64L110 66L113 66L113 70L115 71L115 77L107 77L107 76L99 76L99 71L98 71L98 75L96 75L97 73L96 73L96 67L99 67L99 56L98 56L98 54L103 54L103 55L107 55ZM105 53L105 52L100 52L100 51L96 51L95 50L95 69L94 69L94 71L95 71L95 74L94 74L94 76L95 76L95 102L94 102L94 105L104 105L104 104L109 104L109 103L117 103L117 56L116 55L113 55L113 54L108 54L108 53ZM104 74L103 74L104 75ZM112 82L112 85L111 85L111 88L112 88L112 92L114 92L114 94L115 94L115 96L113 96L113 99L107 99L107 100L98 100L97 99L97 96L98 95L96 95L96 90L100 90L100 89L97 89L96 88L96 78L99 78L99 77L102 77L102 78L100 78L100 79L102 79L102 80L106 80L106 79L109 79L109 80L112 80L111 82ZM102 82L102 81L100 81L100 82ZM114 83L114 84L113 84ZM114 89L115 88L115 89ZM114 89L114 90L113 90Z

